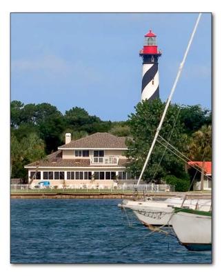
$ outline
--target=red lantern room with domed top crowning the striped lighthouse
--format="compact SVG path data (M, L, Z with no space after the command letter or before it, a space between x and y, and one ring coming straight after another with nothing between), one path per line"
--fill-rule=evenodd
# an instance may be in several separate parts
M145 34L143 50L140 51L141 55L161 55L157 49L157 35L150 30Z

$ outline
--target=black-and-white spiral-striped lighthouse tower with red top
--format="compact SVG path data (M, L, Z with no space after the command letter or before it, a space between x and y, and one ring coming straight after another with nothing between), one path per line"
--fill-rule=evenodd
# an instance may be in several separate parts
M139 52L143 59L141 101L145 99L152 101L159 98L158 59L161 52L157 49L156 34L150 30L144 37L143 49Z

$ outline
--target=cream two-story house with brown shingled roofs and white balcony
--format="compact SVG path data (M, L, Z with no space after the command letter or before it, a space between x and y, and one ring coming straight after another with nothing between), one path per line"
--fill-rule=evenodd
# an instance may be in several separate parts
M107 186L117 179L131 179L125 171L128 159L124 156L126 137L116 137L106 132L72 141L70 133L65 134L65 144L46 158L25 166L28 179L50 181L51 186ZM37 172L36 172L37 171Z

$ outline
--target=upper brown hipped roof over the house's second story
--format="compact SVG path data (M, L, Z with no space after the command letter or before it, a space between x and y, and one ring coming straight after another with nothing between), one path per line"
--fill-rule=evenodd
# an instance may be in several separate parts
M127 149L125 144L126 137L117 137L108 132L97 132L78 140L60 146L58 149L68 148L119 148Z

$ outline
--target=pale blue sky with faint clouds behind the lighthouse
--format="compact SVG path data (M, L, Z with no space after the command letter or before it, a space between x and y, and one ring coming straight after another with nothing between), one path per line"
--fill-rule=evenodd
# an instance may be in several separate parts
M144 35L162 51L159 89L166 101L197 13L12 13L11 100L85 108L124 121L141 99ZM172 102L211 109L212 23L203 13Z

